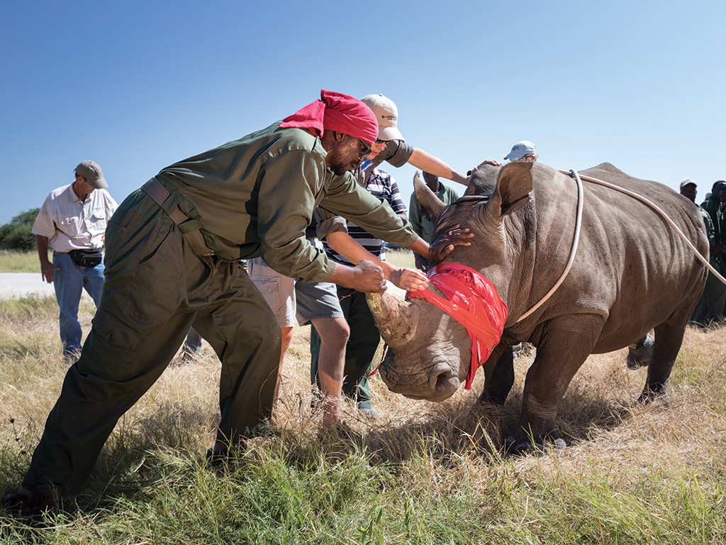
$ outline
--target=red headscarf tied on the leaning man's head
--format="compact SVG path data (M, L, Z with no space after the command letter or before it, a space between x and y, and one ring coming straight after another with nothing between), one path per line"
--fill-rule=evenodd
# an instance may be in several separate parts
M283 119L280 128L287 127L309 129L318 137L324 130L342 132L369 146L378 138L378 121L367 105L347 94L325 89L320 91L320 100Z

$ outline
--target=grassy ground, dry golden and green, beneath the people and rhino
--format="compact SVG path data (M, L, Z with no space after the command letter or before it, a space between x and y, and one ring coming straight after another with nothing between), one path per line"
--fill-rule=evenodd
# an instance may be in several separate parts
M91 303L82 305L88 331ZM499 411L471 392L408 400L372 380L375 421L346 406L350 437L320 435L309 410L309 328L283 368L277 427L226 472L205 465L219 418L219 362L170 366L119 421L75 516L29 528L0 509L1 543L723 544L723 330L689 329L669 403L634 403L645 371L624 351L591 357L558 424L563 453L502 458L531 354ZM60 391L57 307L0 302L0 489L14 491ZM176 360L178 363L178 360ZM12 420L12 421L11 421Z

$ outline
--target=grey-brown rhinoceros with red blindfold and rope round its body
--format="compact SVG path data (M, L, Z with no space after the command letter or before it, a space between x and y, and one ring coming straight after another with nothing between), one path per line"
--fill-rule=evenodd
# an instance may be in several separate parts
M648 198L708 259L701 214L682 195L629 177L610 163L580 174ZM479 402L505 402L514 382L513 344L529 342L537 348L526 372L518 425L505 440L510 451L541 449L547 443L564 448L555 417L584 360L642 341L653 328L655 343L640 399L665 395L706 282L701 262L656 211L611 188L582 184L582 227L571 270L550 299L520 320L555 285L568 262L578 202L575 179L542 163L484 166L465 196L449 206L415 181L417 198L435 218L434 236L457 225L475 233L470 246L456 246L444 262L484 275L507 305L501 340L482 365ZM465 327L424 299L369 294L369 304L389 347L380 366L388 388L433 401L454 394L468 376L472 358Z

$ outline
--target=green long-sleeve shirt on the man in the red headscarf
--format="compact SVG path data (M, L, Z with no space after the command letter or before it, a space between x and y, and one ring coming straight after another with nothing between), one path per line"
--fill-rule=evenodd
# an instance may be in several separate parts
M383 240L410 246L417 238L387 203L325 166L319 138L280 122L162 169L182 182L207 245L222 259L261 256L282 275L329 280L335 263L306 240L314 209L340 214ZM180 205L181 208L181 205ZM370 229L369 229L370 227Z

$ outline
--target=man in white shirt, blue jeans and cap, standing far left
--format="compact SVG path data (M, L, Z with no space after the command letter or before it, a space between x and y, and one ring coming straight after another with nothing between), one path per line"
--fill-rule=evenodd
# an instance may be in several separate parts
M118 206L104 189L108 187L101 167L94 161L76 166L76 179L47 196L35 223L41 274L54 283L60 307L60 340L63 355L77 358L81 352L78 302L83 288L98 307L103 286L103 246L106 223ZM48 259L48 246L53 262Z

